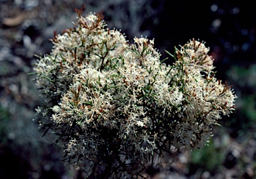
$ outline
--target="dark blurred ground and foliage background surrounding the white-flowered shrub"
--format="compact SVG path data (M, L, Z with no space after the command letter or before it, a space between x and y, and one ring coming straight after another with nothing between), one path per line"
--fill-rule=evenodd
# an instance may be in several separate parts
M247 0L0 0L0 178L83 178L63 165L51 134L42 137L33 121L41 98L28 75L34 55L51 52L53 31L73 27L74 9L83 4L85 14L102 11L108 27L121 29L131 43L154 38L163 58L164 49L205 41L217 79L238 96L209 146L179 154L155 178L256 178L256 11Z

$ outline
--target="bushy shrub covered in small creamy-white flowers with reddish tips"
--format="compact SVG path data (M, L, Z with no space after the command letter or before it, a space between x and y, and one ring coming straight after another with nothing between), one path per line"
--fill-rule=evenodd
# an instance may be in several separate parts
M103 15L82 17L39 57L36 83L45 99L43 126L59 136L65 159L95 178L146 178L169 166L174 150L201 148L235 94L215 79L209 49L189 41L160 61L154 41L129 44Z

